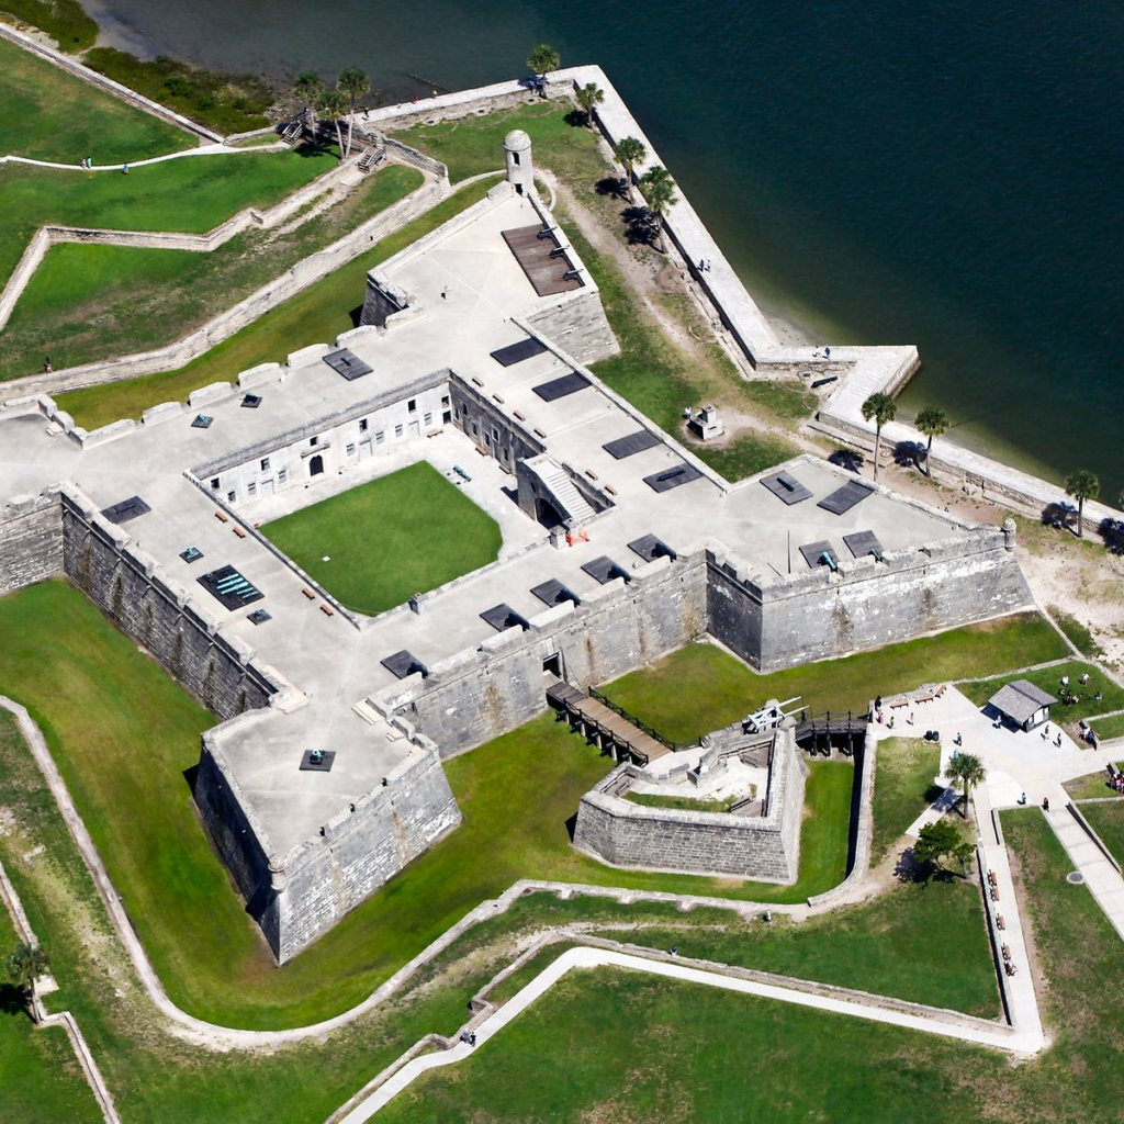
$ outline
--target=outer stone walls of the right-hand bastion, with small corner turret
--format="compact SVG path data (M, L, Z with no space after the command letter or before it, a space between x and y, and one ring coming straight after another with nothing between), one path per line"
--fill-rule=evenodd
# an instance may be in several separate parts
M921 550L840 560L774 584L709 558L709 631L760 671L1017 613L1033 597L1004 533L982 527Z

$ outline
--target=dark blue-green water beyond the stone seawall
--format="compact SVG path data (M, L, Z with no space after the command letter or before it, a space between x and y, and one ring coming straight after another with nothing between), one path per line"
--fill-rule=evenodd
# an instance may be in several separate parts
M769 310L916 343L900 416L1124 488L1124 8L1108 0L84 0L109 37L383 100L598 62Z

